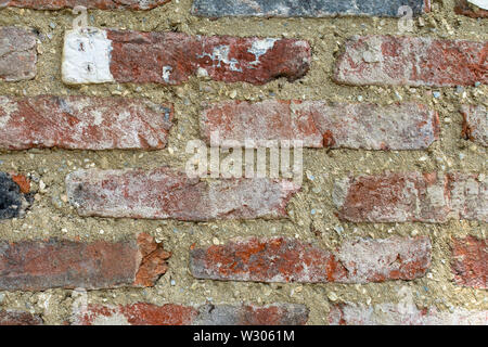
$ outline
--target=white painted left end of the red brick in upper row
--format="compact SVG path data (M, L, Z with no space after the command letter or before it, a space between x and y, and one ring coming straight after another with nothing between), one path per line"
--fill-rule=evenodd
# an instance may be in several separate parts
M68 30L64 37L62 79L68 85L115 81L111 73L112 41L98 28Z

